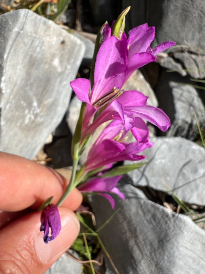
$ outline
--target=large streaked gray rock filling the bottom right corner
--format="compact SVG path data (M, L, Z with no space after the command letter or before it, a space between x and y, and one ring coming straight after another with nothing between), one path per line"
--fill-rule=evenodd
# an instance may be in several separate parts
M120 182L122 209L100 231L100 237L120 274L204 274L205 232L184 215L144 198L142 192ZM92 196L100 227L114 213L101 196ZM102 210L103 209L103 210ZM106 274L114 274L106 260Z

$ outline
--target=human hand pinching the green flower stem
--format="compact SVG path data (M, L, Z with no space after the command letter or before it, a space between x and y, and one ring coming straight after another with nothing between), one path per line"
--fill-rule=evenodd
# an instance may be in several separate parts
M57 203L67 184L48 167L0 152L0 273L43 274L71 246L80 227L77 189L59 207L62 229L48 244L39 231L41 212L33 211L50 196Z

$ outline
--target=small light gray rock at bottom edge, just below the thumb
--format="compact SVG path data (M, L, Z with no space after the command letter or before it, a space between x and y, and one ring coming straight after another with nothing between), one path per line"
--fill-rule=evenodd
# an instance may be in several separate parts
M81 274L82 264L64 253L44 274Z

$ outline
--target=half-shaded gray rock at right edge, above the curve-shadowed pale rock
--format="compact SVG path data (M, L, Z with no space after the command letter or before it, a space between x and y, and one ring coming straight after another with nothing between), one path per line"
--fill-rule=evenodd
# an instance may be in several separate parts
M163 109L171 120L168 136L182 136L190 140L196 137L196 114L203 122L204 104L198 95L194 82L189 77L182 77L176 72L167 73L162 69L155 88L159 108Z

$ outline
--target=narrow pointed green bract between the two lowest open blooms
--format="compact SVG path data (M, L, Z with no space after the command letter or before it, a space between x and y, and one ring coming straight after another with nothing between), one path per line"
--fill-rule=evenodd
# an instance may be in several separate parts
M126 166L118 166L116 168L113 168L112 170L105 172L101 175L101 177L114 177L118 175L126 174L132 170L135 170L137 168L140 168L141 166L144 166L145 164L148 164L149 162L143 162L143 163L136 163Z

